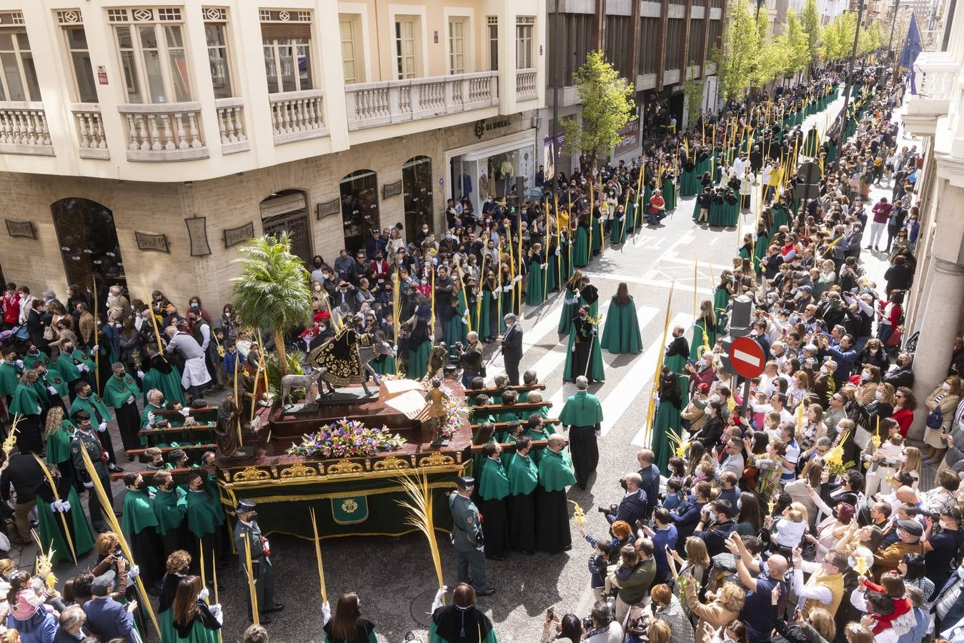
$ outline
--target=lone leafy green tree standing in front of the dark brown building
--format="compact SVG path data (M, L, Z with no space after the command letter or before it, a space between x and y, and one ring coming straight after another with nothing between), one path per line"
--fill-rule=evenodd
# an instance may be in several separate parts
M582 119L565 119L566 154L589 154L589 167L596 166L596 158L619 145L623 137L619 130L629 122L632 112L632 88L612 65L606 62L602 51L591 51L586 62L574 76L576 92L582 104Z

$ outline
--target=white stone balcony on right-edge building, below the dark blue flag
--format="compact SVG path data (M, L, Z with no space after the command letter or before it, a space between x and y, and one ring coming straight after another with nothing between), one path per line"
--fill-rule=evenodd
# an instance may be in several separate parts
M914 67L918 91L907 100L904 122L916 136L932 135L937 120L947 116L956 90L961 64L945 51L928 51L918 56Z

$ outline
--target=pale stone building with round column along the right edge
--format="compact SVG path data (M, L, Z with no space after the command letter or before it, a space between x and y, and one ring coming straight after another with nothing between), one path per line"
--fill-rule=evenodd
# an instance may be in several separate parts
M906 303L907 333L920 331L914 392L923 400L947 376L954 337L964 330L964 5L946 20L946 49L924 52L915 69L918 94L906 100L903 122L922 137L924 168L917 182L921 236L917 272ZM911 437L924 435L926 410L915 414Z

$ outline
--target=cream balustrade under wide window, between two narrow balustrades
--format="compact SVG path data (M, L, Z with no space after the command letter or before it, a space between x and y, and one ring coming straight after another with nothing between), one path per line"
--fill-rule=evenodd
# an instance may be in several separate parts
M125 103L124 121L129 161L189 161L207 158L201 133L201 103Z

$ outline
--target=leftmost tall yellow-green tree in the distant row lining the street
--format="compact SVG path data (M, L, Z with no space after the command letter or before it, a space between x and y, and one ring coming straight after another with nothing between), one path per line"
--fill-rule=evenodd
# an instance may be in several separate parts
M743 98L753 82L760 58L760 32L747 0L736 0L730 7L721 45L713 50L723 98Z

